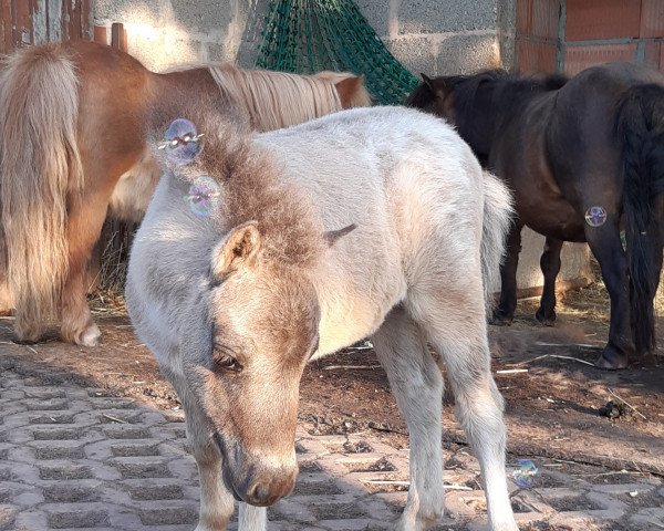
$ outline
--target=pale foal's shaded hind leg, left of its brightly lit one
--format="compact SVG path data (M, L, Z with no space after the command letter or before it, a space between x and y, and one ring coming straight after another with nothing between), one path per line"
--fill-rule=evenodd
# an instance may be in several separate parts
M419 531L436 523L443 491L443 377L422 331L402 308L394 309L372 337L392 392L408 426L411 488L396 529Z

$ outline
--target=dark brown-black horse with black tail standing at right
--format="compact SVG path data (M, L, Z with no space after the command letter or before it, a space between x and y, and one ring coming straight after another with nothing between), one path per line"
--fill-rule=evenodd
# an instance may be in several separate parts
M587 241L611 296L609 343L595 364L623 368L632 354L652 352L664 233L664 75L615 63L569 81L501 71L423 79L406 105L453 122L515 192L518 217L494 322L508 324L513 316L526 225L547 237L537 319L556 319L562 242Z

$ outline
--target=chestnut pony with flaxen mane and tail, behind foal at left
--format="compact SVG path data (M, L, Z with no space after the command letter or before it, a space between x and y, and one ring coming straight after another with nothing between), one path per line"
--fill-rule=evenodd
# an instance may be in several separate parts
M20 340L37 341L60 313L65 341L98 343L84 273L104 218L141 218L159 178L145 143L149 124L177 117L183 102L199 97L259 131L370 103L352 74L229 65L156 74L126 53L81 41L8 58L0 77L0 269Z

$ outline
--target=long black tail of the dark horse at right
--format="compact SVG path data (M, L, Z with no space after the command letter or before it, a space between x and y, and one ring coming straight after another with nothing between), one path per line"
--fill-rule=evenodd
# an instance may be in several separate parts
M636 85L621 98L625 236L631 278L632 331L637 353L653 352L653 300L662 269L664 86Z

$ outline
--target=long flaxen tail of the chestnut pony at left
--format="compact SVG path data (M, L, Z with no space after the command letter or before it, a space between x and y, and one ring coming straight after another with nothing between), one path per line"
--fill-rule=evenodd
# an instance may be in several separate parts
M79 86L62 48L8 58L0 76L0 202L19 339L39 339L68 273L66 198L82 186Z

